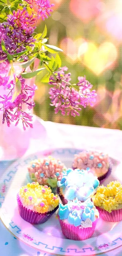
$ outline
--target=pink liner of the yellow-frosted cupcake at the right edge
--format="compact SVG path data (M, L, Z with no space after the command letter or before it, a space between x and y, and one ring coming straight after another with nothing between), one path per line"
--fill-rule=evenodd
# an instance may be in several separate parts
M99 211L100 217L105 221L117 222L122 220L122 209L108 212L108 211L105 211L104 209L101 209L100 207L96 207L96 208Z

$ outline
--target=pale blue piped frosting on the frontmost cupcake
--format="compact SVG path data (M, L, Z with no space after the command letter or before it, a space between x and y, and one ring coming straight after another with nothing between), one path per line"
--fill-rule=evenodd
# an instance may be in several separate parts
M99 218L99 212L94 207L94 203L88 198L84 203L76 200L68 201L68 204L59 204L60 220L67 220L68 223L75 227L81 228L92 227L92 222Z

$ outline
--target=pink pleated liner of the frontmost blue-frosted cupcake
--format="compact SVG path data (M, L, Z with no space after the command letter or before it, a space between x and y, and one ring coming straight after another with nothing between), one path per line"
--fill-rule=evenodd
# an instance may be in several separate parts
M92 222L92 227L81 229L80 226L75 227L74 225L66 223L64 220L60 220L59 216L58 219L63 235L72 240L85 240L90 238L94 233L94 229L98 220L98 218L96 218L96 220Z

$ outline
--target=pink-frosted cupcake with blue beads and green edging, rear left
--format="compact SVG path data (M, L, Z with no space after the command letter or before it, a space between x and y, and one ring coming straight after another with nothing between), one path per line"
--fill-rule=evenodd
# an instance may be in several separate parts
M57 181L61 180L65 169L60 160L49 156L31 161L28 172L32 181L55 188L57 187Z

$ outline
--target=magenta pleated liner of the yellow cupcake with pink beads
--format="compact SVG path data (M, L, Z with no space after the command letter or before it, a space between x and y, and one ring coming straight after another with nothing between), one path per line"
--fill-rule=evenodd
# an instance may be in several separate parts
M17 203L18 203L18 210L21 218L25 221L30 222L31 224L42 224L46 222L52 214L58 209L58 206L53 210L47 213L38 213L28 209L27 207L23 206L21 203L20 197L17 194Z

